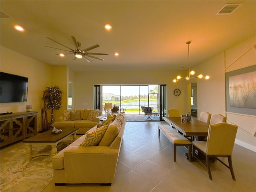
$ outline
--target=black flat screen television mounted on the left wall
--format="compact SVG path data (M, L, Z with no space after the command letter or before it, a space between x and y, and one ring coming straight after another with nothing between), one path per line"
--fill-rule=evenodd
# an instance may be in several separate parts
M0 72L0 102L26 102L28 99L28 78Z

